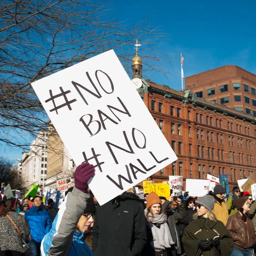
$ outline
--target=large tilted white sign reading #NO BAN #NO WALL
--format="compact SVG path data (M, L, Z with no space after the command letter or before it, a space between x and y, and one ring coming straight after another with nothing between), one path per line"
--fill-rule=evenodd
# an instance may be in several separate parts
M113 50L32 87L100 205L177 160Z

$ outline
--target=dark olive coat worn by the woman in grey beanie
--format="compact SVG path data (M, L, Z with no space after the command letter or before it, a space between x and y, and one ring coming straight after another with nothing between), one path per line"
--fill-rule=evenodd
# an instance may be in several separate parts
M220 236L221 252L215 247L202 251L198 248L198 242L203 239L213 239ZM204 218L197 218L192 221L184 230L182 238L186 256L228 256L233 251L233 238L221 221L210 221Z

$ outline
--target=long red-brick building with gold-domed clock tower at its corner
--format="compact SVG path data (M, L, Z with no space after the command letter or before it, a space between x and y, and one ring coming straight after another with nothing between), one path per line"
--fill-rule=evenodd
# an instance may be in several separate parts
M205 179L207 173L227 174L230 187L244 177L255 180L256 126L252 115L196 97L192 89L177 91L144 80L137 51L132 68L133 79L141 80L139 88L134 83L138 93L178 157L153 175L153 180L168 180L169 175Z

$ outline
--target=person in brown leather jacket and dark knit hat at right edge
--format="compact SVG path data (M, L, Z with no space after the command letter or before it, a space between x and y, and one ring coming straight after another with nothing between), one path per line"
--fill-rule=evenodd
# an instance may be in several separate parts
M234 240L233 252L230 256L251 256L255 244L253 221L247 216L250 203L247 198L235 198L234 203L238 212L227 221L227 230Z

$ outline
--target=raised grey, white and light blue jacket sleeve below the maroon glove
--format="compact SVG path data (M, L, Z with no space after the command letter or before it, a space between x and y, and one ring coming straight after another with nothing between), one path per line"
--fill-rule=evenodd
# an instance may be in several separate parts
M87 205L89 194L85 194L74 187L61 204L52 228L44 236L41 244L42 256L66 256L73 242L76 225Z

